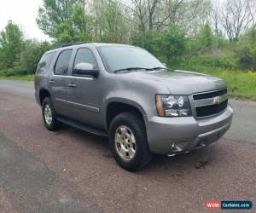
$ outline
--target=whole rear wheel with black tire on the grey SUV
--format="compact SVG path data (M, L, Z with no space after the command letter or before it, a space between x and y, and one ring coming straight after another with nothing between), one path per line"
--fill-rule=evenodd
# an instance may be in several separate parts
M47 130L54 131L61 127L61 123L57 120L55 107L49 97L44 98L42 104L42 114L44 125Z

